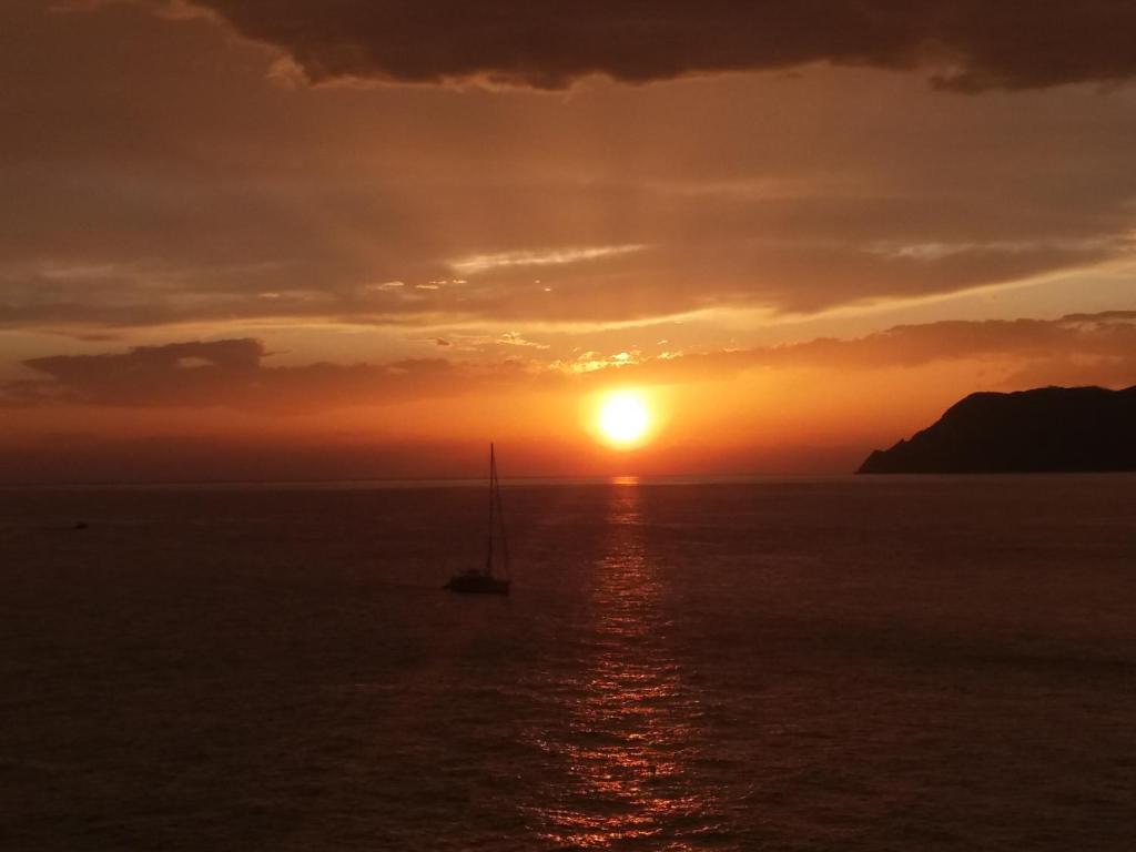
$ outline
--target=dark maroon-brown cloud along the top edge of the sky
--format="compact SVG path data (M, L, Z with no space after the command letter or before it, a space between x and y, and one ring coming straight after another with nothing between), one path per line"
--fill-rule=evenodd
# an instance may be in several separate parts
M563 89L810 62L928 67L937 85L1028 89L1136 72L1129 0L197 0L314 82L486 80Z

